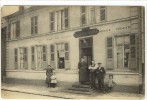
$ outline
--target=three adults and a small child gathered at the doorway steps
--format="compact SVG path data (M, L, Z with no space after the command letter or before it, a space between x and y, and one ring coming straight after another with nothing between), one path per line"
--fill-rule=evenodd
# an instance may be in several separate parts
M87 63L81 58L81 61L78 64L79 68L79 81L81 84L85 82L90 82L90 88L95 90L99 89L104 93L106 90L111 91L115 82L113 81L113 75L109 75L107 84L104 84L104 78L106 71L104 67L101 66L101 62L95 63L93 60L90 66L87 66ZM96 80L98 83L96 84Z

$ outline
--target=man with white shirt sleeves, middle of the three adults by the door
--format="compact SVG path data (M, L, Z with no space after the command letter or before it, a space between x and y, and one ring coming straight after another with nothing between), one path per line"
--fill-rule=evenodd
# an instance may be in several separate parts
M95 61L93 60L91 62L91 65L89 66L90 71L90 88L95 89L95 80L96 80L96 69L98 68L97 64L95 64Z

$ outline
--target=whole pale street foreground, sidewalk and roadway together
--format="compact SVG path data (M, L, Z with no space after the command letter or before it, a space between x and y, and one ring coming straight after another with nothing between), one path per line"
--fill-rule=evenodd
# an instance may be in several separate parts
M45 86L2 84L4 99L100 99L100 100L144 100L144 95L136 93L111 92L107 94L94 92L91 95L65 93L65 87L47 88Z

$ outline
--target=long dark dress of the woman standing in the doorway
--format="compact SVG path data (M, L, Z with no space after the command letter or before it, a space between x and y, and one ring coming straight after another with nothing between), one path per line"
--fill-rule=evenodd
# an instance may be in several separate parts
M79 82L87 82L88 81L88 66L86 62L79 62Z

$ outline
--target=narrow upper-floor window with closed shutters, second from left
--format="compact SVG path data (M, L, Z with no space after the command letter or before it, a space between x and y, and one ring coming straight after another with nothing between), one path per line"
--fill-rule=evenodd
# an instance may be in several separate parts
M38 32L38 17L31 17L31 34L34 35Z

